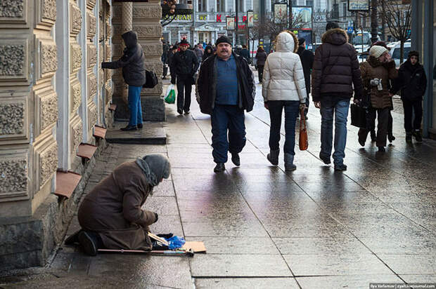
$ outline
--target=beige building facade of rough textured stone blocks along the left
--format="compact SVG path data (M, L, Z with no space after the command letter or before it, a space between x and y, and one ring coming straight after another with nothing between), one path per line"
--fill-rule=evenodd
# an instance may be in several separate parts
M98 147L94 156L101 151L95 126L113 123L109 108L124 88L120 70L112 75L100 65L122 54L122 5L0 2L0 270L44 264L65 236L95 163L77 149L86 143ZM157 74L160 13L159 1L150 0L130 4L125 17ZM145 91L144 106L159 103L161 93L161 84ZM69 197L54 194L60 172L81 175Z

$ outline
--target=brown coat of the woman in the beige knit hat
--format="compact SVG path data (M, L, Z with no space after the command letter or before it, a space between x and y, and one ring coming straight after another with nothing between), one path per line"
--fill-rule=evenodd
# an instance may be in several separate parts
M390 80L398 76L395 69L395 61L382 63L373 56L360 65L361 77L364 81L366 95L370 95L371 107L383 109L392 107L392 97L389 95ZM371 79L381 79L383 90L378 90L377 86L371 86Z

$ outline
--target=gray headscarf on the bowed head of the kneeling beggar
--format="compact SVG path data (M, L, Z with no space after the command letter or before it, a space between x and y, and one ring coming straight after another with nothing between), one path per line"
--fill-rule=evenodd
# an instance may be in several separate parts
M142 169L150 186L155 187L162 178L167 179L171 173L171 165L166 156L162 154L148 154L143 158L136 159L139 168Z

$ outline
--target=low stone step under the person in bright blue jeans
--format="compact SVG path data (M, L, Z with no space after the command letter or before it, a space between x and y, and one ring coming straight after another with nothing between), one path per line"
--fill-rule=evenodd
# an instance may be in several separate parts
M116 122L113 128L108 128L106 141L115 144L136 144L136 145L165 145L167 134L162 123L143 123L139 130L122 131L120 128L127 126L127 123Z

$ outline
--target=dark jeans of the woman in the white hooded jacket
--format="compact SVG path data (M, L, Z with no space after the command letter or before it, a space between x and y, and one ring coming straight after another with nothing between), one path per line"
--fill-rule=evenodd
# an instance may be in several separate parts
M280 141L281 112L285 108L285 147L286 154L295 155L295 122L300 113L300 102L297 100L272 100L268 102L269 118L271 126L269 127L269 149L278 149Z

